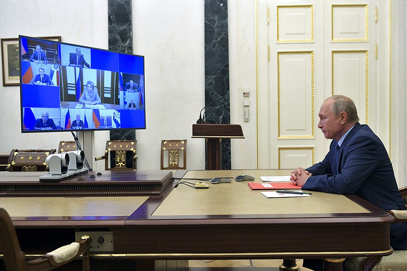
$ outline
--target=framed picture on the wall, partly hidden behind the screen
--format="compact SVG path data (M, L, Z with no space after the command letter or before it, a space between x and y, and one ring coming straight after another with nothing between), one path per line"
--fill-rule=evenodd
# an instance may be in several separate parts
M40 38L61 41L61 36ZM20 84L18 54L18 38L2 39L3 86Z

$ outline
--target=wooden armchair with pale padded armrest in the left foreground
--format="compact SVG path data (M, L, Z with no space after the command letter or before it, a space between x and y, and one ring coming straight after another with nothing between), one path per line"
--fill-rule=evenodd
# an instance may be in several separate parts
M80 255L83 258L83 270L90 270L90 247L91 238L84 235L78 242L60 247L36 259L27 260L25 253L21 251L17 233L9 214L5 209L0 208L0 253L4 254L7 270L51 270L78 258Z

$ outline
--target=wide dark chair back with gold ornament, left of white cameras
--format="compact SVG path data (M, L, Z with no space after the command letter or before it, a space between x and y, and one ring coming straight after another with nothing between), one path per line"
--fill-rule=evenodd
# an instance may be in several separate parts
M56 149L13 149L9 156L8 171L46 171L45 160Z

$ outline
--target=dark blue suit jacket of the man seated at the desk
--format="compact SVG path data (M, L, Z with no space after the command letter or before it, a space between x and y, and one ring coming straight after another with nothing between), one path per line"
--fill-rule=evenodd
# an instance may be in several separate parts
M356 194L384 210L405 210L393 166L383 142L367 125L357 123L339 148L336 168L335 146L322 162L306 170L312 173L302 187L335 194ZM391 246L407 249L407 223L391 225Z

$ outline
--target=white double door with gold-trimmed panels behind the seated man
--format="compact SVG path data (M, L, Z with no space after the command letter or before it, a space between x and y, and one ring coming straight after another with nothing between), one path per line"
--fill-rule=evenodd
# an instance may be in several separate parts
M258 1L258 168L321 161L331 140L318 111L334 94L352 98L360 123L388 144L385 2Z

